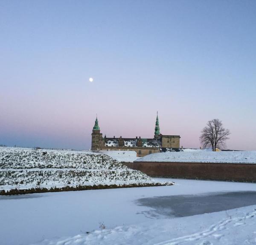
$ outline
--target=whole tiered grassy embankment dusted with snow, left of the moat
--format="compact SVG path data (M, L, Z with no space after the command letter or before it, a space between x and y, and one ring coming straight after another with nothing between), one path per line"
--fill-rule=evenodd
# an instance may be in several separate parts
M0 191L154 184L146 174L103 154L0 147Z

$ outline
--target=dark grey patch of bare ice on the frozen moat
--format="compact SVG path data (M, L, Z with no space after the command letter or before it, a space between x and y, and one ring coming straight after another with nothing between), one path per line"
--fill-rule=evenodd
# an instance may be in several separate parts
M186 217L255 205L256 191L148 197L135 203L151 208L142 212L148 217Z

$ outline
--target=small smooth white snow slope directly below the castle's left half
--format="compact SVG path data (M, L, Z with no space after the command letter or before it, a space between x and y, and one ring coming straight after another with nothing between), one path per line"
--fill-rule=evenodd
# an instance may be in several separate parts
M141 157L137 157L136 151L99 151L99 153L106 154L118 162L133 162Z

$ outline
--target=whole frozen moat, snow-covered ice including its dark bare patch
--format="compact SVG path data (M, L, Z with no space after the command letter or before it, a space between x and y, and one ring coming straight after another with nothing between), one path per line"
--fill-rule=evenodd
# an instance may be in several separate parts
M102 223L108 230L120 225L129 226L145 222L149 224L153 222L152 225L159 226L159 223L154 222L163 222L168 226L168 232L169 225L176 224L172 228L176 231L176 228L180 227L180 219L187 220L189 217L176 218L175 215L189 216L200 214L199 211L214 212L256 204L256 184L253 183L160 180L172 180L176 184L1 196L0 244L28 245L44 239L83 235L99 230ZM252 206L248 212L254 209L255 207ZM233 209L233 212L236 213L236 210ZM237 212L237 215L244 217L244 214L240 214L241 211ZM211 217L209 224L204 225L206 227L212 222L218 222L219 219L227 219L230 214L232 214L230 210L227 214L225 211L223 214L211 213L206 216ZM172 219L171 222L169 217ZM189 223L191 222L196 225L198 219L192 218ZM186 224L185 222L184 225ZM201 221L195 227L195 231L198 231L200 226ZM180 231L189 232L187 227Z

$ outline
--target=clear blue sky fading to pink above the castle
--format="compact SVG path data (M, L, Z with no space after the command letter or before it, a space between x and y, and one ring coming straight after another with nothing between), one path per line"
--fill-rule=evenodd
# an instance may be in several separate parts
M256 150L256 1L0 1L0 144L89 149L208 120ZM93 82L89 82L89 78Z

